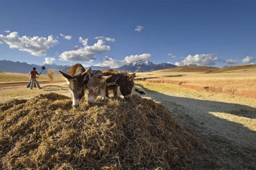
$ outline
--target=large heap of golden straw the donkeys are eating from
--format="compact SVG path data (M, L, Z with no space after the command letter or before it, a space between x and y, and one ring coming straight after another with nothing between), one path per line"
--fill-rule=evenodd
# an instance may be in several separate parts
M49 93L4 107L4 169L171 169L186 167L197 138L167 107L133 95L71 107ZM4 106L4 105L2 105ZM8 105L9 106L9 105ZM180 167L181 168L181 167Z

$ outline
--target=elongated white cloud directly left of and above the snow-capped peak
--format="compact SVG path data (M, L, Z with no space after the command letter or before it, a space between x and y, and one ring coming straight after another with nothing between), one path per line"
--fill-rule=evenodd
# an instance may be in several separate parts
M132 61L142 60L150 58L151 54L141 54L141 55L130 55L126 56L124 60L115 60L113 58L109 58L108 56L105 56L102 58L103 63L98 63L95 66L101 66L101 67L121 67L127 63L131 63Z

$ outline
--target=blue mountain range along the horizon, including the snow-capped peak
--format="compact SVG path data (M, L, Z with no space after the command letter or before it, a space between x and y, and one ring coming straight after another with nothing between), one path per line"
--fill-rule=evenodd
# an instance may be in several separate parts
M13 62L8 60L0 60L0 70L1 71L9 71L9 72L18 72L18 73L28 73L33 67L36 67L36 70L39 72L41 71L42 67L47 69L53 70L62 70L66 72L69 65L56 65L56 64L44 64L44 65L36 65L36 64L29 64L25 62ZM103 70L103 69L110 69L110 67L100 67L100 66L90 66L92 70ZM149 60L138 60L131 63L127 63L122 67L112 68L118 71L128 71L128 72L146 72L146 71L153 71L153 70L162 70L162 69L170 69L173 67L177 67L171 63L161 63L161 64L154 64ZM88 69L88 67L85 67ZM57 72L57 71L56 71ZM45 74L46 71L43 71Z

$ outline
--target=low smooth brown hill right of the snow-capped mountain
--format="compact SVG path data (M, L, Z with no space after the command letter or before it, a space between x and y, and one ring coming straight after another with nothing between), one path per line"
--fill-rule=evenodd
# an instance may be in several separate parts
M179 66L172 69L163 70L165 72L209 72L209 71L217 71L220 68L218 67L209 67L209 66L192 66L185 65Z

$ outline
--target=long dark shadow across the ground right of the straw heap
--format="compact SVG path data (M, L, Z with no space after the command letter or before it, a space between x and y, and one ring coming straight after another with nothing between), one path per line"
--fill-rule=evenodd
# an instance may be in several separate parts
M142 84L139 85L144 88L149 97L162 102L164 105L169 107L171 111L174 111L174 107L179 105L178 107L180 108L175 111L179 111L179 109L183 110L183 112L185 111L186 114L193 117L198 124L204 125L206 128L210 128L214 132L224 135L226 138L235 141L235 143L237 142L240 146L256 148L256 131L245 127L241 123L237 123L238 120L235 120L239 119L241 122L243 119L247 119L246 121L248 125L248 121L250 121L248 118L256 118L256 108L234 103L170 96L149 90ZM179 114L179 112L174 114ZM227 119L232 120L229 121L227 119L220 118L225 116ZM252 122L249 126L251 128L255 128L255 122Z

